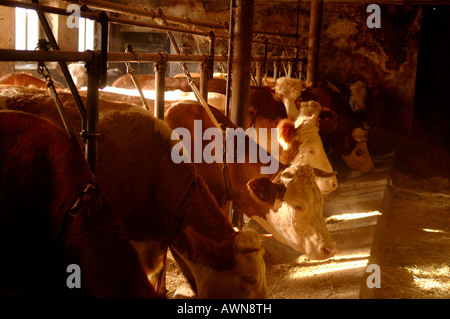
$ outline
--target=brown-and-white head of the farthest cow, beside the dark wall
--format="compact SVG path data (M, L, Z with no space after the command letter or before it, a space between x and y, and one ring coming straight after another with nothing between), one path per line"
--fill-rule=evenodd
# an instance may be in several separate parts
M369 173L374 169L372 157L367 148L368 127L353 129L352 136L346 137L347 149L350 154L342 155L342 159L348 167L361 173Z

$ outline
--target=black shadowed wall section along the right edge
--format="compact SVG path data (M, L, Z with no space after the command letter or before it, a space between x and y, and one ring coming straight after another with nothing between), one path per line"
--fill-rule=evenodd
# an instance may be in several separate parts
M450 7L426 7L414 115L400 157L420 175L450 177Z

